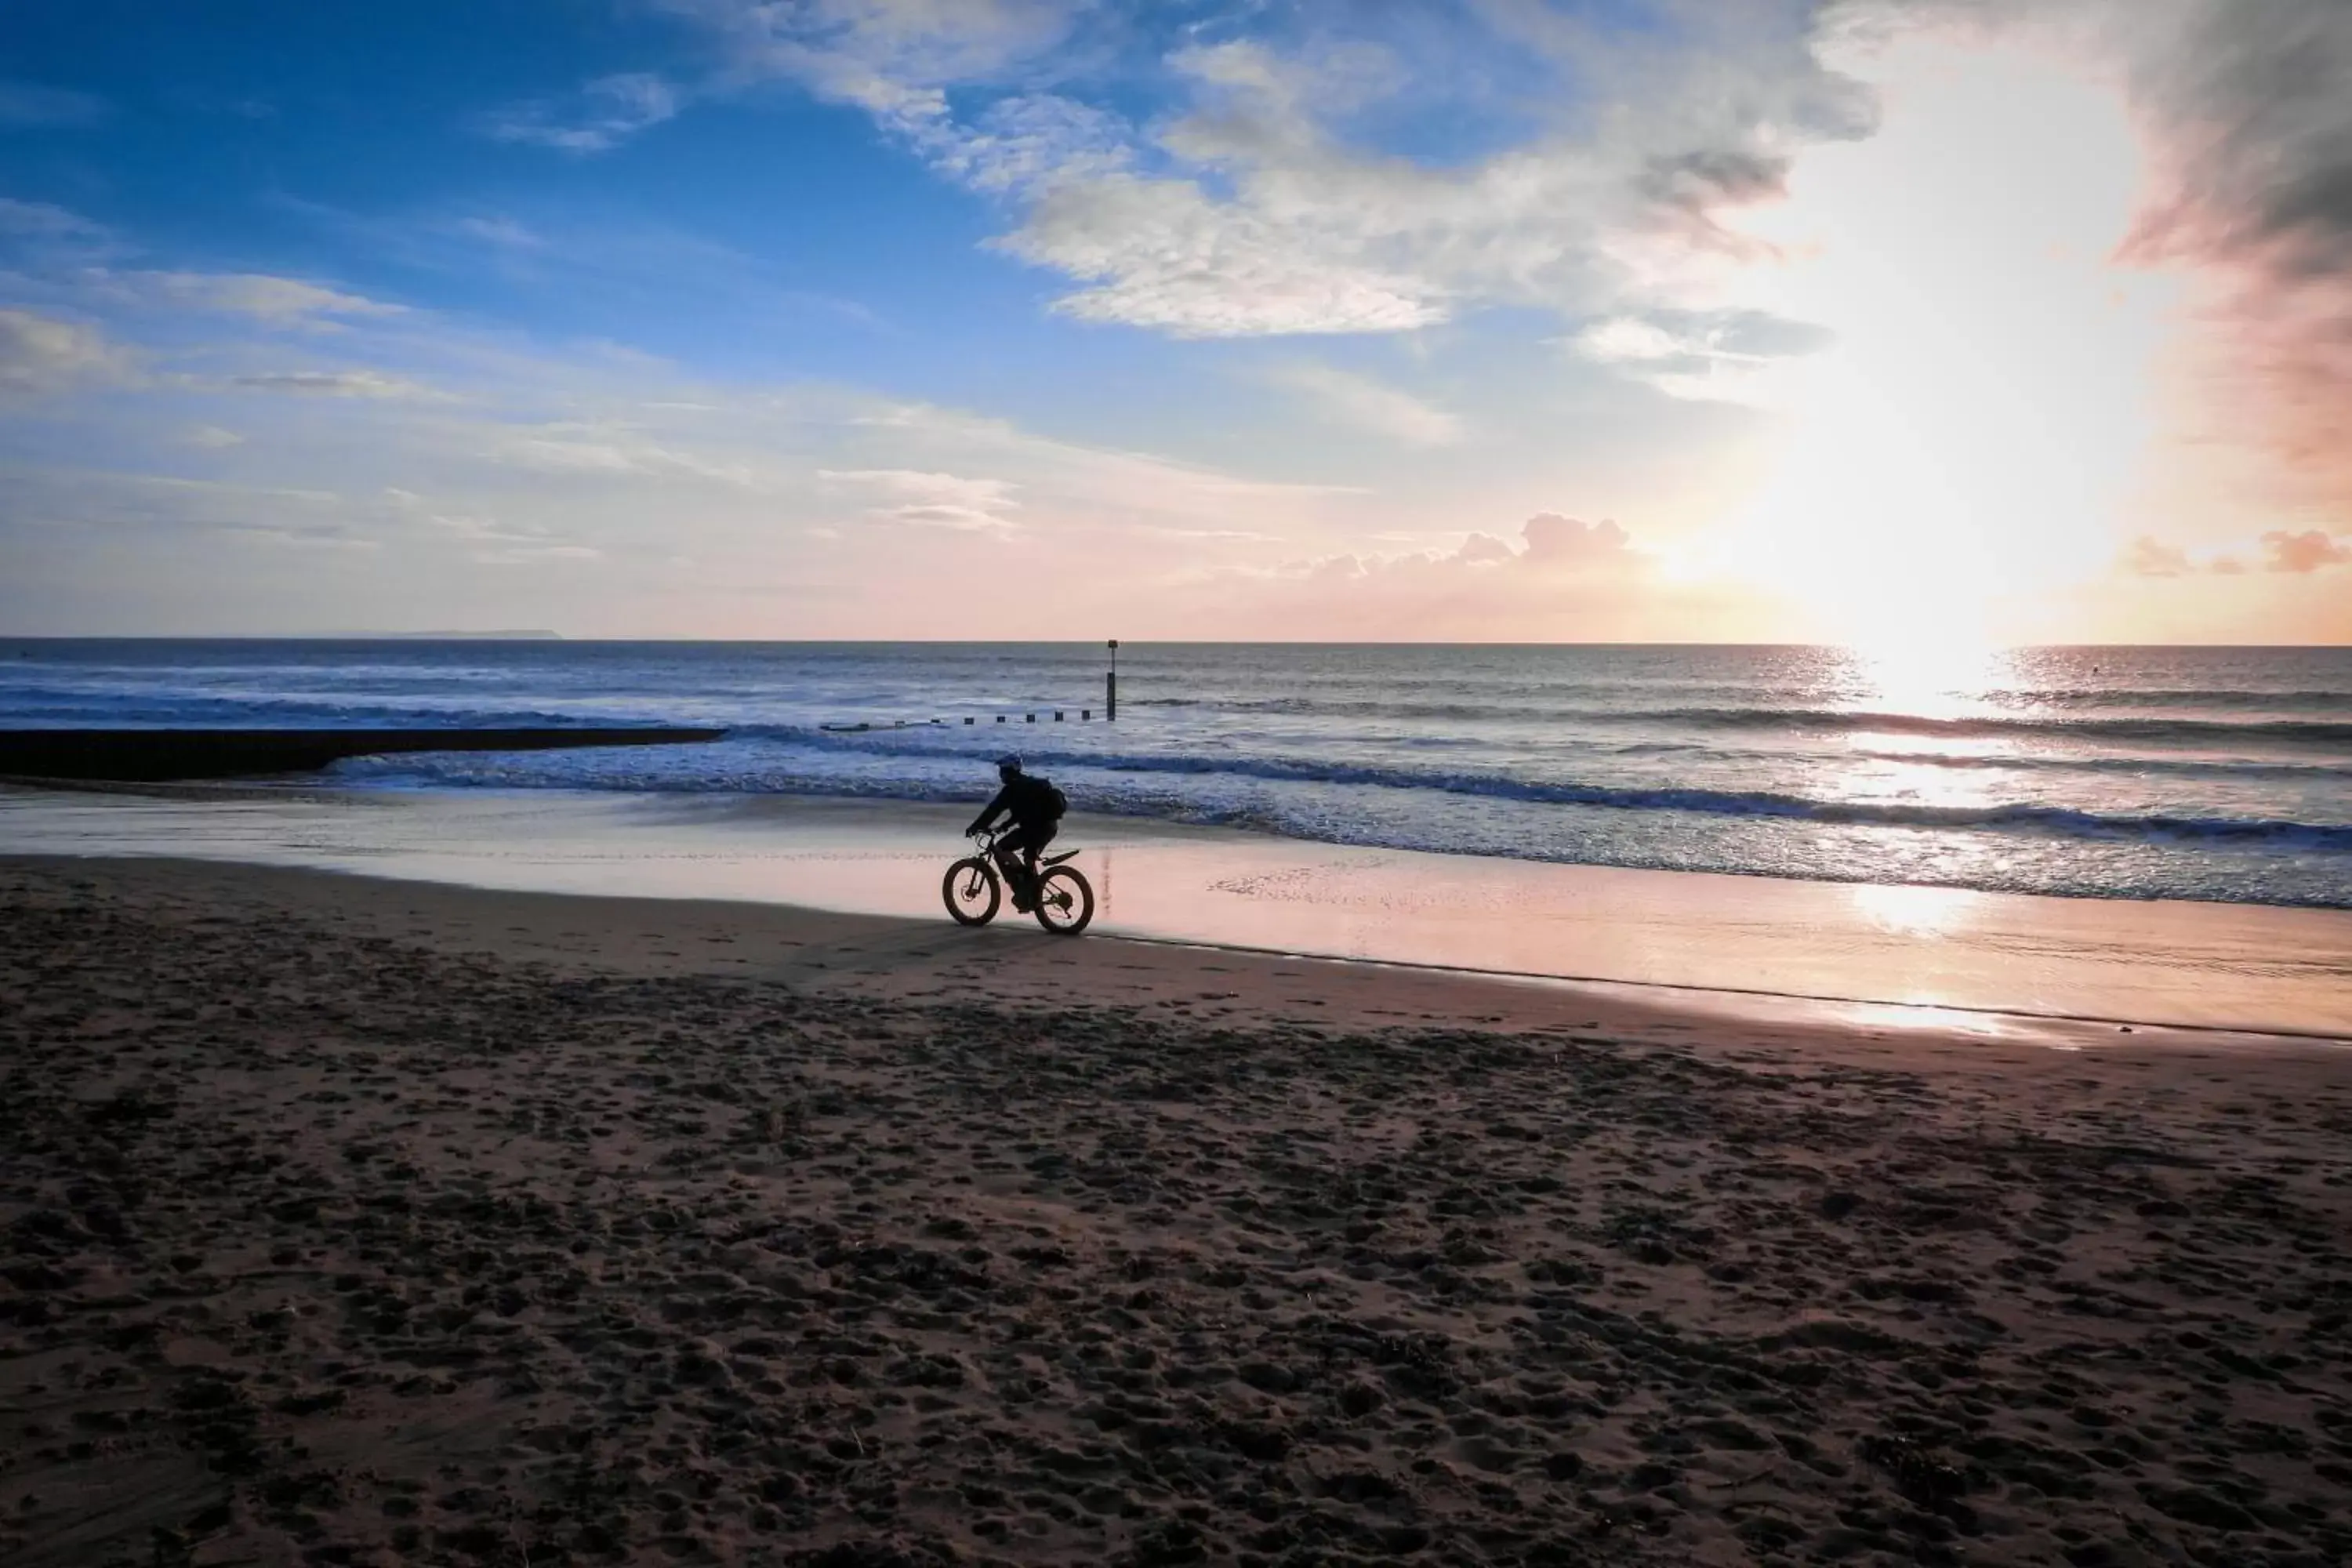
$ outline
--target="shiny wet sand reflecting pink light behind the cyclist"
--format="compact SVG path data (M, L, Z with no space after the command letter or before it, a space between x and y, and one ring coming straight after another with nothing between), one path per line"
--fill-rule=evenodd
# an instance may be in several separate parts
M308 865L454 886L943 922L960 806L833 797L0 788L0 853ZM2352 1039L2352 912L1569 867L1073 816L1094 933L1228 952Z

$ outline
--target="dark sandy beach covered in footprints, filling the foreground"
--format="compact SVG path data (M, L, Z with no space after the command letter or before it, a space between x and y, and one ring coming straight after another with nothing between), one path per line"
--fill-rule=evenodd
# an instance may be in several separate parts
M0 863L12 1563L2338 1563L2352 1053Z

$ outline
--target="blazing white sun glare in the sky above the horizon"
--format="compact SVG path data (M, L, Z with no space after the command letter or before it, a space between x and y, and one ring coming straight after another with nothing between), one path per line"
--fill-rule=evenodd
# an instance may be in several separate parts
M1790 369L1717 559L1825 637L1980 649L2117 552L2171 299L2110 263L2140 148L2112 85L2016 47L1844 63L1884 127L1799 165L1748 275L1837 346Z

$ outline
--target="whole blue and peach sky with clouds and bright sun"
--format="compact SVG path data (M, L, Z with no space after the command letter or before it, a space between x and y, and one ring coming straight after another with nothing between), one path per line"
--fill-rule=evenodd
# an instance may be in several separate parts
M0 635L2352 642L2345 0L12 0Z

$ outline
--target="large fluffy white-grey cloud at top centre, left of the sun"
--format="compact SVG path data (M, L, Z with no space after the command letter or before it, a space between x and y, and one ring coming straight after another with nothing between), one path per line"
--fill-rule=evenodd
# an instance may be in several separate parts
M1152 118L1021 80L1096 9L1077 0L661 5L724 56L713 92L793 80L866 108L950 179L1018 209L995 244L1080 284L1061 313L1171 336L1411 331L1489 303L1658 303L1649 296L1691 252L1752 249L1717 214L1776 195L1797 146L1867 127L1860 89L1813 56L1804 7L1656 0L1613 31L1475 7L1484 28L1463 19L1449 38L1472 42L1449 47L1550 71L1557 108L1534 136L1442 167L1343 139L1414 71L1376 38L1334 28L1287 49L1169 28L1178 47L1150 89L1181 113ZM1334 16L1390 24L1374 7ZM1120 26L1134 47L1145 19ZM1108 56L1056 68L1068 78L1089 59ZM1449 108L1524 115L1531 101Z

